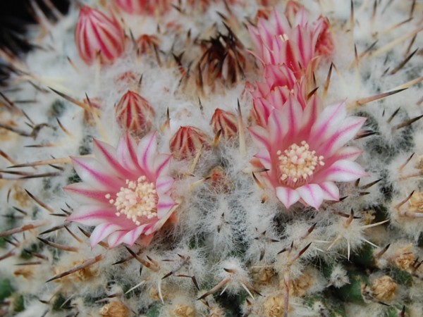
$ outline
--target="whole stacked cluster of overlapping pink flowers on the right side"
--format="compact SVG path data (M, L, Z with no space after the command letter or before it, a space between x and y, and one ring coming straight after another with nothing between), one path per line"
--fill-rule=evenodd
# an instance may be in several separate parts
M259 148L251 163L265 170L257 178L286 208L300 201L319 209L324 200L339 200L335 182L366 175L354 162L360 150L345 146L365 118L348 117L344 102L324 107L317 93L310 96L317 61L333 51L329 22L310 25L305 8L293 1L287 8L294 22L274 10L250 27L263 70L251 92L250 134Z

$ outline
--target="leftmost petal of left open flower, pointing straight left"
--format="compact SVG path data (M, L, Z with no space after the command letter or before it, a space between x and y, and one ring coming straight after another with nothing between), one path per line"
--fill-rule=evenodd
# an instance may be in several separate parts
M66 194L80 204L109 205L109 199L106 199L106 194L109 194L109 192L93 189L90 185L85 184L85 182L75 182L74 184L63 187L63 189L66 191Z

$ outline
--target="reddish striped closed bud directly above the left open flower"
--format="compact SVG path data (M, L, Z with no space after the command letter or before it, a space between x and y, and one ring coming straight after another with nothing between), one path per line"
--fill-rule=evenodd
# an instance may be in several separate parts
M135 137L143 137L152 128L154 109L136 92L128 90L116 106L116 120L123 130Z

